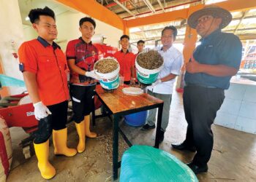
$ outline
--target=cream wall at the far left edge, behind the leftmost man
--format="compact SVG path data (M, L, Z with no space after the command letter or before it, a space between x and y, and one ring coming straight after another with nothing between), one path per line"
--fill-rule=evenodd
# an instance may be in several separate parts
M7 76L23 79L18 71L18 59L12 56L24 41L18 1L0 0L0 60L3 73ZM13 44L11 43L13 41ZM18 94L24 87L8 87L10 94Z

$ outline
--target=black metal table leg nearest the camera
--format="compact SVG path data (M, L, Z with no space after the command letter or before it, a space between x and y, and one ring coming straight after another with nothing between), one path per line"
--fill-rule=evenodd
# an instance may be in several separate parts
M113 180L118 178L118 119L113 114Z

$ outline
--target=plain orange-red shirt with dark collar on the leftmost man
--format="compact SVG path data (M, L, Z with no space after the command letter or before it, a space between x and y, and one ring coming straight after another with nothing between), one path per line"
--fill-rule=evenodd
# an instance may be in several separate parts
M18 50L23 70L36 74L39 97L46 106L69 99L67 60L58 44L38 37L21 44Z

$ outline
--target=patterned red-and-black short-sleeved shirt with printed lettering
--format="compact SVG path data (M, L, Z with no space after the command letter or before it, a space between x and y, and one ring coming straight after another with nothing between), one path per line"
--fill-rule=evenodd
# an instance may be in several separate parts
M97 48L91 44L91 42L87 44L81 37L79 39L69 41L67 44L66 55L67 61L75 59L75 65L84 71L94 70L94 63L98 60ZM71 71L69 82L78 85L96 84L95 79L85 75L80 75L74 71Z

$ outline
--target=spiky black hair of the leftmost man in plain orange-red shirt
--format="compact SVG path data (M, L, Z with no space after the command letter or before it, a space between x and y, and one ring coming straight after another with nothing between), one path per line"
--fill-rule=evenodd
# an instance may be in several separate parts
M37 23L39 21L40 15L49 16L55 20L55 14L54 14L53 10L48 7L45 7L44 9L42 9L42 8L31 9L29 12L30 22Z

